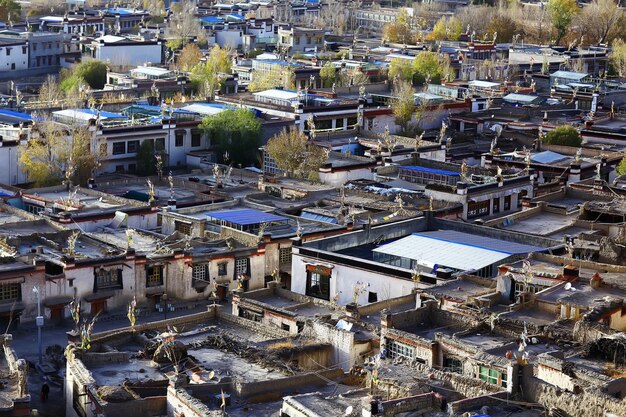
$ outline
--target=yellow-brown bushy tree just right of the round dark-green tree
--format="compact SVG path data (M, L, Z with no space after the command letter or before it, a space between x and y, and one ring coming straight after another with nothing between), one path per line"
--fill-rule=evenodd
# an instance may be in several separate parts
M295 128L272 137L265 150L287 176L297 178L319 178L319 168L326 161L324 150L310 143L307 136Z

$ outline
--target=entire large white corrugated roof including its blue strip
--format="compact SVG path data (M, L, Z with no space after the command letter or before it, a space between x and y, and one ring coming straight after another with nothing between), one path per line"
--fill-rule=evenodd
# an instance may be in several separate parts
M374 252L412 259L420 265L458 270L482 269L511 255L543 248L454 230L414 233L382 245Z

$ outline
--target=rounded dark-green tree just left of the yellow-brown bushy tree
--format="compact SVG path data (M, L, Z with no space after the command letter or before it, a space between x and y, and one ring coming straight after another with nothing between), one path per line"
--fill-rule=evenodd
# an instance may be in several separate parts
M205 117L200 128L217 148L220 162L248 166L257 161L261 146L261 122L252 111L226 110ZM228 155L228 160L225 155Z

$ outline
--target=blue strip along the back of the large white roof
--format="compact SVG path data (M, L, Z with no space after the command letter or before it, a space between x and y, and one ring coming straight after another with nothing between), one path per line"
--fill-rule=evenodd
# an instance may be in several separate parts
M538 252L545 249L540 246L509 242L506 240L495 239L483 235L472 235L469 233L457 232L456 230L436 230L431 232L420 232L413 234L415 236L422 236L429 239L452 242L458 245L465 245L494 252L501 252L508 255Z

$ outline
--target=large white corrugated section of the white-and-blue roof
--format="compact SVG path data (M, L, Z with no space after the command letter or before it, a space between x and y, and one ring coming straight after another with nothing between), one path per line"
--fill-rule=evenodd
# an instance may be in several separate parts
M511 256L507 252L420 234L380 246L374 252L413 259L428 268L437 264L458 270L478 270Z

